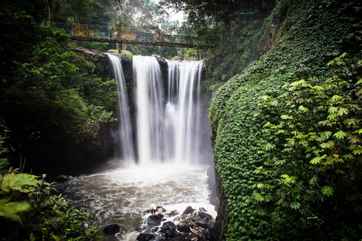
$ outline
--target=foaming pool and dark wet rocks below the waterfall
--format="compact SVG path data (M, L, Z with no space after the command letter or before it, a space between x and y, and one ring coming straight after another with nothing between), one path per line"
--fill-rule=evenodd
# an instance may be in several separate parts
M69 177L58 185L94 214L108 240L210 240L216 217L207 167L153 165Z

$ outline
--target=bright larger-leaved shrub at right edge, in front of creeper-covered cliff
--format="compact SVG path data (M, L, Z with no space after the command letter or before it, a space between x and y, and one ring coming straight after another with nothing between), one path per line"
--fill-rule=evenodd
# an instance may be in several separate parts
M304 230L320 240L357 240L362 232L353 220L362 214L362 59L343 54L328 67L326 79L295 81L257 101L269 121L257 167L265 182L253 195L267 203L283 240Z

